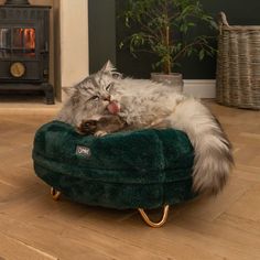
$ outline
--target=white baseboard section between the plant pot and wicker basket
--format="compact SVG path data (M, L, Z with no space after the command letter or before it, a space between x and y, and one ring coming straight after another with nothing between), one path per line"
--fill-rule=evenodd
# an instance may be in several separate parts
M184 79L184 93L196 98L215 98L215 79Z

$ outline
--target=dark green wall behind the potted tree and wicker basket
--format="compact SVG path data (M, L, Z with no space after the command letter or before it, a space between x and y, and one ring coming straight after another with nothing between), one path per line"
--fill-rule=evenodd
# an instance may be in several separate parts
M89 0L89 37L90 37L90 71L95 72L100 64L110 58L120 72L127 76L149 78L151 63L154 57L142 54L134 58L128 50L119 50L119 42L127 35L122 21L116 19L127 0ZM230 24L259 24L260 0L202 0L206 11L217 19L219 11L225 11ZM204 28L195 29L195 33L205 32ZM216 46L216 41L213 43ZM177 71L184 78L215 78L216 57L182 61Z

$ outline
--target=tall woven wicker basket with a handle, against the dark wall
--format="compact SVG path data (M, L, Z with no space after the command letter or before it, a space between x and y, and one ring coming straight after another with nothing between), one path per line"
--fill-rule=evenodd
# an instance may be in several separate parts
M260 109L260 26L234 26L219 17L217 101Z

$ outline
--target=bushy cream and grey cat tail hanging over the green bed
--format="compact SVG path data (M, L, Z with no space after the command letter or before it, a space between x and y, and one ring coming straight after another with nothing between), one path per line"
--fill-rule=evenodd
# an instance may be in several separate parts
M187 133L195 151L193 188L217 194L234 165L231 145L217 119L195 99L176 107L173 127Z

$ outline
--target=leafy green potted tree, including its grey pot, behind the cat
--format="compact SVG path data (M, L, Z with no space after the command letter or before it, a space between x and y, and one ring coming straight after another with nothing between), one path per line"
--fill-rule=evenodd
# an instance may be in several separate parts
M203 59L216 51L210 45L213 36L193 35L197 23L217 29L198 0L128 0L123 19L126 26L137 32L123 40L120 47L129 45L134 56L138 52L155 54L153 68L160 67L161 73L152 73L151 78L177 90L183 89L182 74L172 72L177 61L191 55Z

